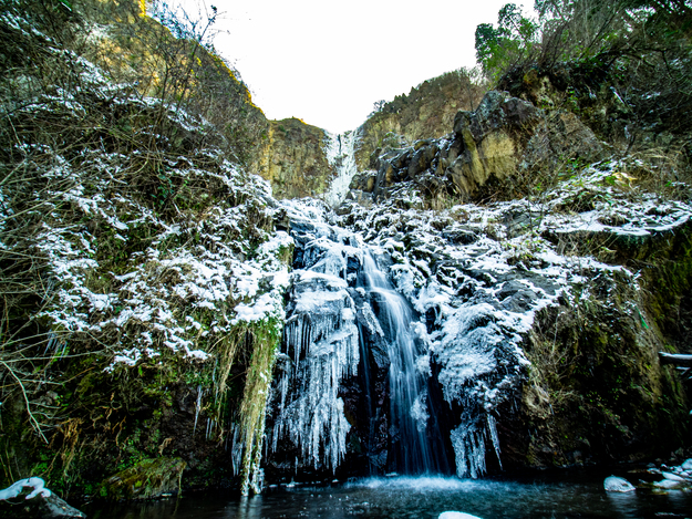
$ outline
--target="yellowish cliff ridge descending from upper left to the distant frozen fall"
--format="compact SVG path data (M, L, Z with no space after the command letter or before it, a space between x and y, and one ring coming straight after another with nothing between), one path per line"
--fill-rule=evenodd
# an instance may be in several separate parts
M224 134L228 153L268 180L277 198L326 191L332 168L324 132L297 118L267 120L239 73L205 46L200 30L172 21L174 38L135 0L82 0L79 7L90 28L80 46L113 81L203 115Z

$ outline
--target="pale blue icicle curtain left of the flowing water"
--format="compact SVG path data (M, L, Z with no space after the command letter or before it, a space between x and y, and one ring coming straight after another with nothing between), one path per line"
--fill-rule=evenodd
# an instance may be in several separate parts
M339 396L340 382L357 374L360 360L354 303L345 281L347 251L355 249L340 241L327 247L329 227L311 226L298 212L292 217L307 230L304 268L292 274L276 382L279 404L272 448L286 436L314 467L324 463L335 469L345 455L351 428Z

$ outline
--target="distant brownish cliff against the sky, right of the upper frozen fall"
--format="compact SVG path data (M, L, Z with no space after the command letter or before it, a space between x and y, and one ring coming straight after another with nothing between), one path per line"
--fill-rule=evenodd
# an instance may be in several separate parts
M372 168L371 157L383 150L450 132L459 110L474 110L485 89L464 71L425 81L409 95L400 95L371 115L360 127L355 152L359 170Z

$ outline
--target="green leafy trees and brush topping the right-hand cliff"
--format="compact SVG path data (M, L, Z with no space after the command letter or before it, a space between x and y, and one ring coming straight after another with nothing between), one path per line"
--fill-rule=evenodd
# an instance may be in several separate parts
M543 104L543 79L607 139L629 144L690 131L692 9L682 1L537 1L479 25L476 52L500 90ZM545 92L544 92L545 93ZM555 100L552 100L552 103ZM665 142L665 139L660 142Z

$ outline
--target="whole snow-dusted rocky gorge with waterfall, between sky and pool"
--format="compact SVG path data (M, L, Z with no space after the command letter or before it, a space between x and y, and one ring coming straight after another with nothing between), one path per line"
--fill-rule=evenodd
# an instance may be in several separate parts
M138 2L72 8L0 14L0 487L484 492L690 457L659 360L690 353L688 128L571 63L450 73L328 135Z

